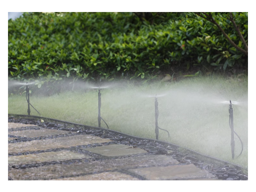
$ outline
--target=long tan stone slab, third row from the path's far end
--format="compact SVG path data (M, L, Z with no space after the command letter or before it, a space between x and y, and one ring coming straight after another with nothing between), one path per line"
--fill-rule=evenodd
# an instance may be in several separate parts
M19 153L26 151L47 150L51 148L72 147L92 143L110 142L109 139L91 135L74 135L63 138L33 140L27 142L8 143L8 153Z

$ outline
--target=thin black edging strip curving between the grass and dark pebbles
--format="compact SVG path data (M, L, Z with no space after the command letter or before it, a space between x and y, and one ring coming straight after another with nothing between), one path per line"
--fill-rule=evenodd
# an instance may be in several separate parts
M96 129L96 130L106 130L106 131L109 131L109 132L113 132L113 133L116 133L116 134L121 134L123 136L128 136L130 138L135 138L135 139L138 139L138 140L149 140L149 141L152 141L152 142L158 142L158 143L161 143L161 144L164 144L164 145L170 145L170 146L172 146L174 148L182 148L182 149L184 149L184 150L186 150L186 151L188 151L188 152L190 152L192 154L196 154L197 156L201 156L202 158L208 159L211 162L213 161L213 162L218 162L220 164L229 164L230 166L233 166L233 167L235 167L237 169L242 170L245 174L248 175L248 168L245 168L245 167L242 167L240 165L233 164L231 162L228 162L228 161L225 161L225 160L221 160L221 159L218 159L218 158L215 158L215 157L212 157L212 156L208 156L208 155L202 154L200 152L196 152L196 151L194 151L192 149L189 149L189 148L186 148L186 147L182 147L182 146L179 146L177 144L173 144L173 143L162 141L162 140L156 140L156 139L132 136L132 135L125 134L125 133L118 132L118 131L111 130L111 129L94 127L94 126L88 126L88 125L83 125L83 124L78 124L78 123L72 123L72 122L58 120L58 119L53 119L53 118L48 118L48 117L41 117L41 116L34 116L34 115L22 115L22 114L8 114L8 116L18 116L18 117L26 117L26 118L33 118L33 119L34 118L40 118L40 119L44 119L44 120L50 120L50 121L55 121L55 122L62 122L62 123L66 123L66 124L82 126L84 128L90 128L90 129Z

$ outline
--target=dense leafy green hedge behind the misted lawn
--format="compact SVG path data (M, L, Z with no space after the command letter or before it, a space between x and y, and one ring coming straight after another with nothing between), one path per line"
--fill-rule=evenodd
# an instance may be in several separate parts
M248 62L210 22L191 12L166 17L150 24L132 12L25 13L8 20L8 78L149 78L174 65ZM238 17L248 43L248 12ZM222 28L242 46L231 24Z

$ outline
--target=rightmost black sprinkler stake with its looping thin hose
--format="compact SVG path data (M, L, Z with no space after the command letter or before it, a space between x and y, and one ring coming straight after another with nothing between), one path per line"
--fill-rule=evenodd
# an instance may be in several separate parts
M232 102L231 100L229 101L229 126L231 129L231 154L232 154L232 159L235 158L235 140L234 140L234 134L236 134L236 136L238 137L238 139L240 140L241 144L242 144L242 150L240 152L240 154L238 155L238 157L242 154L244 146L243 146L243 142L240 139L240 137L238 136L238 134L234 131L234 116L233 116L233 108L232 108Z

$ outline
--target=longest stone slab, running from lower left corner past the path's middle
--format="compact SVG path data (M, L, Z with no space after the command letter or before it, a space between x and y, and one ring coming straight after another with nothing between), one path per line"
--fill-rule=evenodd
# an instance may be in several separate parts
M98 161L88 161L79 164L55 164L37 168L11 169L9 176L14 180L41 180L69 177L72 175L94 174L104 171L134 169L151 166L176 165L179 162L170 156L140 154L139 156L124 156ZM30 173L30 174L28 174Z

